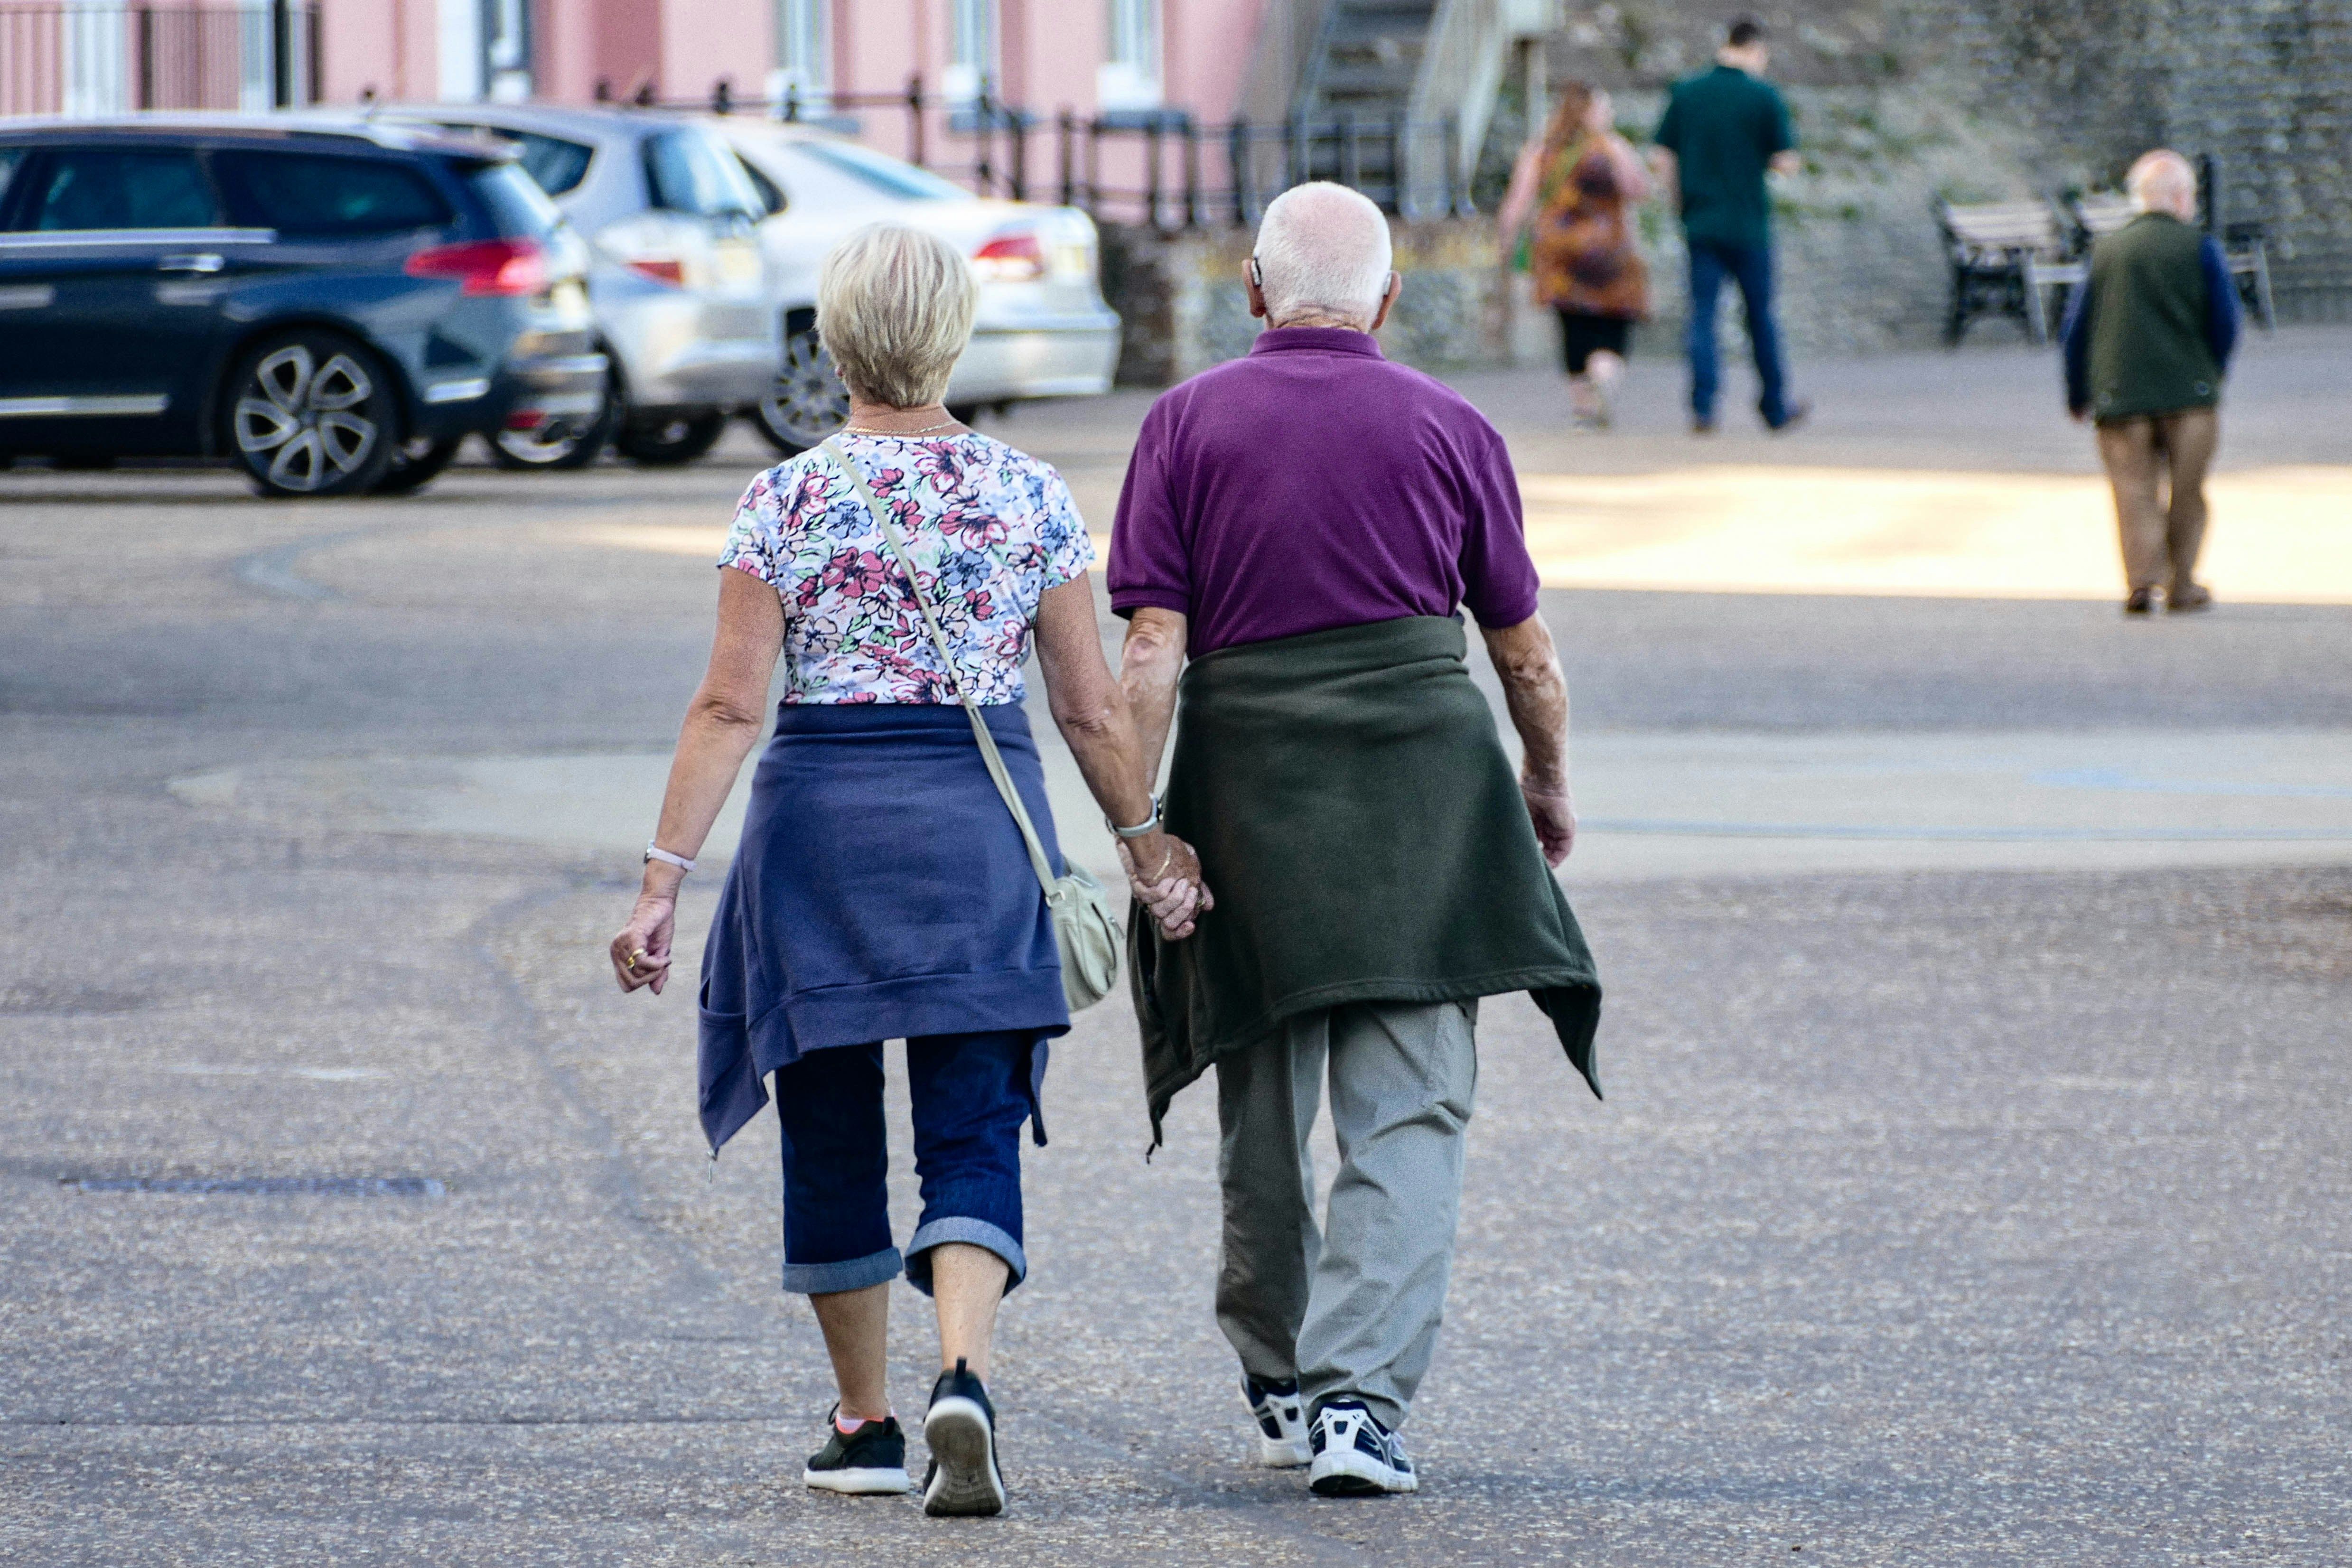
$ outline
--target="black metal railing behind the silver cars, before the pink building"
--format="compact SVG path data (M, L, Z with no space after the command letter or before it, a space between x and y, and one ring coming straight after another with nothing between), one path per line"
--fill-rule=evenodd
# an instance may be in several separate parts
M612 101L607 85L597 99ZM720 115L771 115L788 122L898 122L898 155L969 186L978 195L1054 200L1098 221L1162 230L1256 223L1282 190L1334 179L1404 219L1468 216L1470 183L1461 176L1461 129L1409 115L1294 115L1275 122L1202 125L1183 110L1080 115L1051 120L997 101L985 87L971 99L929 94L920 75L903 92L833 92L741 99L727 78L703 99L656 99L652 87L626 99L642 108L689 108Z

